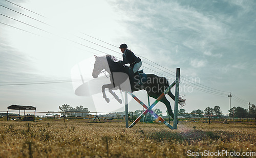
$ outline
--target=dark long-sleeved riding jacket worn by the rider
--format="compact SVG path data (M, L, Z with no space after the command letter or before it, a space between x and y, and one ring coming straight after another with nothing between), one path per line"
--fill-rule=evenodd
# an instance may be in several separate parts
M122 65L129 63L131 67L134 67L134 65L136 63L139 63L140 61L141 61L141 59L136 57L131 50L125 49L123 52L123 61L119 61L119 62Z

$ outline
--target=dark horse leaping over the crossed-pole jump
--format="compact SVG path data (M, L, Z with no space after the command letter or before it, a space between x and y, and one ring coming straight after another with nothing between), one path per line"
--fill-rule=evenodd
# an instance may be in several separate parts
M93 69L93 77L97 78L98 75L101 72L104 72L102 70L105 70L110 74L110 81L111 84L108 85L103 85L102 86L102 94L103 98L105 98L106 102L109 102L110 99L106 97L105 94L105 88L109 89L109 92L120 102L122 103L122 100L118 98L118 96L112 91L112 89L120 89L120 84L122 84L125 80L127 80L127 77L119 77L118 80L116 80L116 77L113 77L113 73L115 72L123 72L125 74L129 74L129 67L121 65L116 57L111 56L111 55L106 55L102 57L97 57L95 56L95 63L94 63L94 69ZM148 96L153 97L157 99L163 92L164 90L169 87L169 83L166 80L165 77L159 77L155 74L146 74L147 75L147 81L143 82L143 84L137 82L137 83L131 83L131 90L132 92L134 91L139 91L139 90L145 90L148 94ZM127 76L127 75L126 75ZM120 79L121 78L121 79ZM130 81L134 81L131 80ZM126 90L127 91L127 90ZM172 92L168 92L168 95L175 100L175 96L172 94ZM185 100L179 97L179 104L180 106L185 105ZM172 111L172 107L170 106L170 102L166 99L164 96L161 100L163 102L168 110L168 113L172 118L174 118L174 114Z

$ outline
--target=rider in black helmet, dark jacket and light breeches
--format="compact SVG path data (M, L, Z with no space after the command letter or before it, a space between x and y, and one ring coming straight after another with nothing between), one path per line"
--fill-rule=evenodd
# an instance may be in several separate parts
M127 49L127 45L126 44L121 44L119 47L123 53L123 60L119 61L122 65L124 64L130 64L131 69L130 69L130 75L133 78L134 73L137 72L139 70L139 68L142 65L141 59L136 57L134 55L134 53Z

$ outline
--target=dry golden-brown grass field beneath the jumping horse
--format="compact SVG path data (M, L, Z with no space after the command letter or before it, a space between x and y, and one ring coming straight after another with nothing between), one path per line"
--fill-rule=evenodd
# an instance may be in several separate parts
M187 157L222 150L241 156L256 152L254 124L180 122L177 130L162 123L124 127L124 122L0 121L0 157Z

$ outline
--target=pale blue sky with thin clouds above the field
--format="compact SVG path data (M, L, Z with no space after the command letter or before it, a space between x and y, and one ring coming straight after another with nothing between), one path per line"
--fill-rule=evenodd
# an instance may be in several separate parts
M121 59L122 43L142 59L147 74L172 83L181 68L180 95L188 113L215 106L228 112L229 93L231 108L256 103L254 1L1 0L0 5L0 111L12 104L38 112L57 112L63 104L124 111L113 98L97 102L101 93L75 94L80 74L94 82L94 55ZM134 94L147 103L144 91ZM155 108L166 111L162 103ZM140 109L129 97L129 111Z

